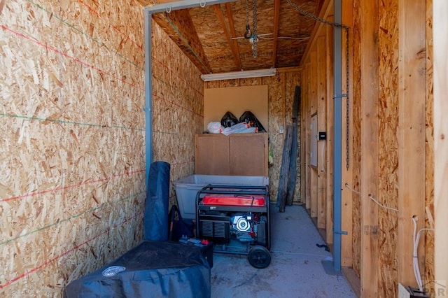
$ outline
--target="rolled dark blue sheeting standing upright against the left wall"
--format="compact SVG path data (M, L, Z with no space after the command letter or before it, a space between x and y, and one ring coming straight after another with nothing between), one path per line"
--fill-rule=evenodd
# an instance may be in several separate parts
M169 169L167 162L153 162L149 169L144 240L168 240Z

